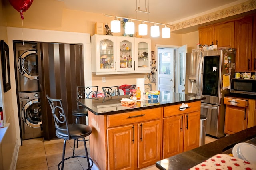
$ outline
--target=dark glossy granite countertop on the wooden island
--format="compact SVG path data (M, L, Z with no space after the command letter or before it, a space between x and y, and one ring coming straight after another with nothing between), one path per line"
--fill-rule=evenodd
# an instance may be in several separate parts
M201 101L205 99L205 97L196 95L186 95L182 93L163 91L160 92L157 99L138 100L134 105L122 106L120 102L122 98L128 98L128 95L120 96L119 99L117 96L113 96L112 99L100 97L96 100L77 99L77 101L95 115L110 115L128 111L152 109L168 105Z

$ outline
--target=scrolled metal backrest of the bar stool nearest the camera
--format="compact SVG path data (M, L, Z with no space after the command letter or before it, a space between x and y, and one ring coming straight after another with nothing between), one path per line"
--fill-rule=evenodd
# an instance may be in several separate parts
M50 107L52 109L55 130L63 131L64 134L66 134L66 138L69 140L70 135L69 135L69 130L68 130L68 120L66 118L66 114L64 112L61 99L53 99L53 98L50 98L48 95L46 95L46 97L47 97ZM57 137L59 137L59 136L57 135ZM64 136L61 136L61 138L63 138L63 137Z

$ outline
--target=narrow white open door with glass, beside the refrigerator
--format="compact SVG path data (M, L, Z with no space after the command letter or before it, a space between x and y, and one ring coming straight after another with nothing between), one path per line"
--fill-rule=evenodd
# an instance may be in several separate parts
M178 93L185 93L185 76L186 76L186 53L187 45L178 48L177 51L177 74L176 74L176 90Z

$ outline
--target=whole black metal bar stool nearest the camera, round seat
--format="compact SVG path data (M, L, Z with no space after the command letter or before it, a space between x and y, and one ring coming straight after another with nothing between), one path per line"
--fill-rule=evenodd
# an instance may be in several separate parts
M62 164L61 170L63 170L65 160L70 158L77 158L77 157L86 158L88 163L88 169L90 170L93 166L93 161L88 156L85 137L89 136L92 133L92 128L87 125L79 124L79 123L69 124L62 106L61 99L52 99L48 95L46 95L46 97L52 109L52 115L54 117L54 124L56 129L56 136L58 138L64 139L62 161L60 161L60 163L58 164L58 170L60 170L60 164ZM82 138L84 141L84 149L85 149L86 156L75 155L75 141L76 139L79 139L79 138ZM68 158L65 158L66 141L70 139L74 139L73 155ZM90 165L90 160L92 162L91 165Z

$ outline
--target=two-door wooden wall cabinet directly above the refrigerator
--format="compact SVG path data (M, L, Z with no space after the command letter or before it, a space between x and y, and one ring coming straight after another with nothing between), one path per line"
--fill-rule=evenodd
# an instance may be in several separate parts
M199 28L199 43L218 45L218 47L234 47L234 22L215 24Z

